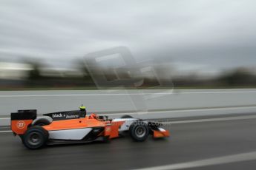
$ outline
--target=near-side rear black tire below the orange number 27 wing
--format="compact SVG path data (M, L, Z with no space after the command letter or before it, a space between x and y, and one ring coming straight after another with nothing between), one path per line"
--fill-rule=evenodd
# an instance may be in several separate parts
M48 140L48 132L41 126L32 126L23 136L23 143L28 149L40 149Z

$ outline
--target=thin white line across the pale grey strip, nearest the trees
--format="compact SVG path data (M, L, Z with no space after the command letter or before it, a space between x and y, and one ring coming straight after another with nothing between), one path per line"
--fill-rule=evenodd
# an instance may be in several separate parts
M147 92L147 93L111 93L111 94L73 94L73 95L0 95L0 98L22 97L65 97L65 96L104 96L104 95L183 95L183 94L225 94L225 93L255 93L256 91L231 92Z

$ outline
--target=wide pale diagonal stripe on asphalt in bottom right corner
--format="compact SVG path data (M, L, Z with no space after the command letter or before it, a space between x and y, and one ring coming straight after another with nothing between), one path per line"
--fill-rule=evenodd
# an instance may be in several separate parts
M232 154L228 156L213 157L213 158L204 159L204 160L195 160L195 161L190 161L186 163L174 163L166 166L154 166L154 167L140 169L140 170L192 169L192 168L198 168L203 166L221 165L225 163L238 163L238 162L243 162L248 160L256 160L256 152Z

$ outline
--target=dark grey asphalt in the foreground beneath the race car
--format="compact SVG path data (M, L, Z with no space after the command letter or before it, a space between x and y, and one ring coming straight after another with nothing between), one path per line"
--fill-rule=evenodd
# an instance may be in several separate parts
M256 151L256 118L174 123L165 126L171 137L136 143L129 137L110 143L48 146L28 150L19 137L0 133L0 169L142 169L225 157ZM0 129L1 130L1 129ZM243 157L241 157L243 158ZM223 160L226 158L223 158ZM251 160L199 166L191 169L256 169ZM154 167L154 169L159 169ZM182 169L183 166L181 166Z

